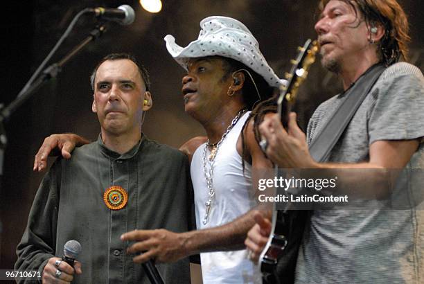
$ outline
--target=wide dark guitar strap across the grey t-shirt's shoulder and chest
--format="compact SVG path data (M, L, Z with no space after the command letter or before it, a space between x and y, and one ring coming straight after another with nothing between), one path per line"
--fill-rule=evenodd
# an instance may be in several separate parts
M344 102L335 110L328 123L310 143L309 152L315 161L324 162L328 159L330 151L346 129L358 107L369 94L371 88L385 71L386 66L375 64L371 66L355 83L348 89L344 96Z

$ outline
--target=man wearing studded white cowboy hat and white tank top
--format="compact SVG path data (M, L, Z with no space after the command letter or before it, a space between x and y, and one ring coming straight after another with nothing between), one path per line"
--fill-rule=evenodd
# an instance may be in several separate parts
M248 118L254 105L270 98L272 87L282 81L240 21L208 17L200 26L198 39L186 48L177 46L171 35L165 37L170 55L188 71L182 80L185 110L207 134L182 147L194 153L191 176L198 230L137 230L121 239L138 241L128 252L145 251L134 258L137 263L201 253L204 283L261 283L259 267L247 259L243 242L254 224L252 170L272 165L258 146L254 120ZM52 148L55 142L49 143Z

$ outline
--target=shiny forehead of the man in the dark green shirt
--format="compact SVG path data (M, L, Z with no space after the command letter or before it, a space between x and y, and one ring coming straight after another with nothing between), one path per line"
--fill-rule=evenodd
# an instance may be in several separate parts
M131 60L106 60L98 66L95 82L123 80L144 86L139 67Z

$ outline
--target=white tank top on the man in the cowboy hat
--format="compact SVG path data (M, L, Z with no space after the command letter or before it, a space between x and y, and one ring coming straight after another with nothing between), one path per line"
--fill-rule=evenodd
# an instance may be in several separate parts
M191 161L191 179L195 193L195 213L197 229L217 227L233 221L256 205L251 186L251 165L245 162L242 170L242 157L236 144L242 126L249 117L245 113L227 134L213 166L213 188L215 197L211 205L209 222L204 225L205 202L209 199L203 170L203 151L206 143L195 151ZM206 149L206 168L209 172L209 149ZM203 283L262 283L260 268L247 259L247 251L218 251L200 254L202 260Z

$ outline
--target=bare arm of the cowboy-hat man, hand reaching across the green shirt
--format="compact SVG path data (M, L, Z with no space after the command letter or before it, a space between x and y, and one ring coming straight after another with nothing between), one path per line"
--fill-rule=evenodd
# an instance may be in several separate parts
M272 163L260 151L252 127L253 124L249 124L245 130L245 142L252 168L270 168ZM255 180L253 184L257 188ZM255 224L254 215L255 211L249 211L222 226L185 233L173 233L164 229L136 230L123 234L121 239L138 241L128 248L129 253L146 251L134 257L136 263L143 263L150 258L173 262L200 252L243 249L247 231Z

